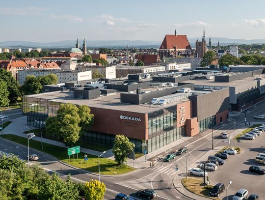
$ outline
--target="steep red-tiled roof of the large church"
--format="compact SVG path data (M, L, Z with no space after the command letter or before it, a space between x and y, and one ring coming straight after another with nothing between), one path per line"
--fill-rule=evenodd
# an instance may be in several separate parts
M186 35L165 35L159 49L191 49Z

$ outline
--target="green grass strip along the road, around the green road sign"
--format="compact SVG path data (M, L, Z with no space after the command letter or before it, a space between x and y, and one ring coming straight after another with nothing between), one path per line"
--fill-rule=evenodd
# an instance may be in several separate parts
M15 136L15 135L1 135L0 137L13 141L15 143L20 143L25 146L27 146L27 139ZM71 156L71 160L69 161L69 156L67 156L67 148L55 146L48 143L43 143L43 150L41 150L41 143L39 141L29 140L29 146L30 148L37 149L39 151L43 151L45 153L48 153L58 160L61 160L65 163L68 163L72 166L85 169L87 171L92 171L97 173L98 172L98 156L87 154L88 161L87 161L87 167L85 167L85 161L84 161L84 155L85 153L80 152L78 154L79 159L77 160L77 154L75 155L75 161L73 159L73 155ZM100 158L100 173L105 175L115 175L115 174L121 174L121 173L127 173L129 171L132 171L133 169L129 166L122 165L117 166L117 164L110 159L106 158Z

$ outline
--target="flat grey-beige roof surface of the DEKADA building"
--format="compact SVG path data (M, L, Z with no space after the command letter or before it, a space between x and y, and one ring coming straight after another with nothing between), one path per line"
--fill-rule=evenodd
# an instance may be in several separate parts
M155 91L157 90L157 88L148 88L144 90ZM74 92L72 91L62 91L62 92L55 91L55 92L39 93L39 94L32 94L32 95L25 95L25 96L35 97L35 98L40 98L40 99L48 99L48 100L52 100L55 102L61 102L61 103L87 105L88 107L92 107L92 108L102 108L102 109L127 111L127 112L142 113L142 114L151 113L154 111L158 111L160 109L165 109L165 108L177 105L181 102L188 101L188 98L184 98L179 101L168 103L166 105L151 105L151 104L135 105L135 104L129 104L129 103L121 103L120 93L121 92L117 92L116 94L101 96L101 97L94 98L94 99L74 98Z

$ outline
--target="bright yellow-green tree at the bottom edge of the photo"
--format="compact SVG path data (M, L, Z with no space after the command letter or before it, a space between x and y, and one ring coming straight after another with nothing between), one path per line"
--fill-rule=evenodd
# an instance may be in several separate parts
M85 183L85 198L87 200L103 200L106 193L106 185L98 180L90 180Z

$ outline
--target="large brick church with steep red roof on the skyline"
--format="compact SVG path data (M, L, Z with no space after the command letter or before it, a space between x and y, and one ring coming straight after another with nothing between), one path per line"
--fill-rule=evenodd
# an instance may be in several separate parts
M186 35L165 35L164 40L159 48L159 57L189 57L193 55L193 50L188 42Z

